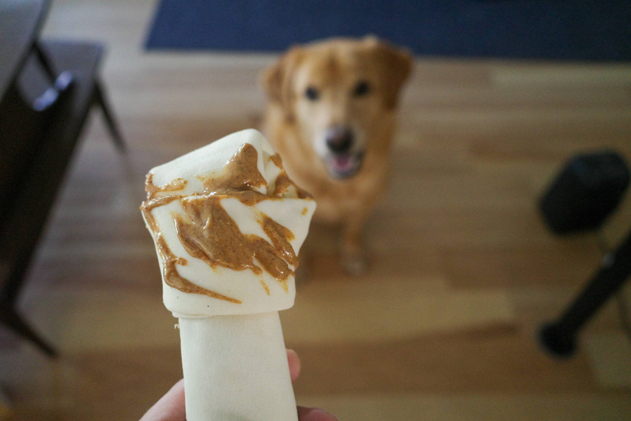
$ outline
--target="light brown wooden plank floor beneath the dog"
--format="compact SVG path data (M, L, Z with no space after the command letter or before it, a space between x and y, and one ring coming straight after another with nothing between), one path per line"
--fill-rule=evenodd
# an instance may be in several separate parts
M95 112L23 292L62 350L0 350L15 420L133 420L181 374L138 210L148 169L259 124L264 54L144 52L153 1L56 1L45 34L99 39L129 153ZM281 314L297 399L341 420L631 419L631 345L611 303L571 360L534 335L599 263L594 235L554 237L536 200L580 151L631 160L631 65L422 57L401 104L392 180L346 276L313 227L296 305ZM630 227L631 200L607 242ZM625 292L627 300L631 294ZM4 334L6 336L6 334ZM10 340L5 340L10 343Z

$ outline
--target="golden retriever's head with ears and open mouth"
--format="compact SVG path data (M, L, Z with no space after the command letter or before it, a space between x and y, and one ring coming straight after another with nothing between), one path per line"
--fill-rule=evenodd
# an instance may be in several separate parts
M266 71L263 82L329 175L343 179L360 169L410 68L409 54L372 37L332 40L293 48Z

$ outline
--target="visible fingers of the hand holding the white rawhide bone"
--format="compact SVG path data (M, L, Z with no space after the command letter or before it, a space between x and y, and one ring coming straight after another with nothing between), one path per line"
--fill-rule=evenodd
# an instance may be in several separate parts
M289 363L289 374L292 381L300 374L300 359L294 350L287 350L287 361ZM140 418L140 421L186 421L184 410L184 379L165 393L155 405ZM298 421L338 421L330 413L320 408L305 408L298 406Z

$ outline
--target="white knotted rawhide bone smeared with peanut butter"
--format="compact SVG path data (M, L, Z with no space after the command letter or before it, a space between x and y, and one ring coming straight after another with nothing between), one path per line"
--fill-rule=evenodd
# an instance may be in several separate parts
M297 420L278 311L293 305L315 202L253 129L151 169L146 191L187 420Z

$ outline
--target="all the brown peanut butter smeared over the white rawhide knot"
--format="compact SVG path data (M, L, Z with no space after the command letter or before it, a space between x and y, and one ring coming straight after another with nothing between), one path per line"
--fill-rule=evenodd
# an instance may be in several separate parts
M201 259L213 269L222 266L235 271L251 270L256 275L260 275L264 270L281 282L281 286L287 290L286 280L288 276L294 275L289 265L294 268L298 266L298 258L290 244L294 238L293 233L259 211L257 222L268 235L271 244L258 235L244 235L221 206L221 199L227 198L238 199L246 206L254 206L263 200L282 199L283 194L290 188L295 189L298 198L311 198L309 193L295 186L287 177L278 154L268 158L280 169L280 174L274 181L273 193L268 196L256 191L255 187L267 187L267 182L257 168L257 158L256 148L245 143L228 161L221 174L198 176L203 182L204 190L202 193L193 193L189 196L177 194L177 191L182 191L186 186L186 180L180 178L165 186L155 186L153 175L147 175L147 200L141 205L141 210L155 235L156 247L163 261L163 278L167 285L186 293L203 294L235 304L241 303L239 300L199 287L177 272L176 265L186 266L187 261L175 256L170 250L155 218L151 215L151 210L179 200L183 213L173 211L171 216L174 218L177 238L188 254ZM162 193L168 194L158 196ZM255 259L262 268L255 263ZM261 283L269 294L267 285L262 281Z

